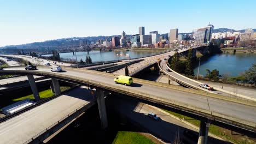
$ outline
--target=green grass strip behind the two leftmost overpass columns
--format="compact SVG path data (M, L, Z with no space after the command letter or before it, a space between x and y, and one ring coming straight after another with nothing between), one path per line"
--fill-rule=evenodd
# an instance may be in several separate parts
M61 88L61 92L63 92L63 91L66 91L67 89L70 89L71 87L60 87L60 88ZM39 92L40 99L50 98L50 97L53 97L54 95L55 95L55 93L52 93L51 89L47 89L45 91ZM24 100L24 99L34 100L34 95L33 94L26 95L25 97L13 99L13 101L20 101L20 100Z

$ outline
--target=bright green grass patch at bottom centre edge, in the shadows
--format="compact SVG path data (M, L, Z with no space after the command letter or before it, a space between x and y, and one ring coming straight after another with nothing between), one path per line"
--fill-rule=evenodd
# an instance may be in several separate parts
M154 143L146 136L133 131L118 131L112 144L119 143Z

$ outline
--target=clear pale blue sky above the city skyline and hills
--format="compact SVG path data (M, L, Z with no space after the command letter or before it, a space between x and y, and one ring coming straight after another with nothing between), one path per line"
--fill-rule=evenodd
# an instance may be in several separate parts
M256 28L255 0L0 0L0 46L97 35Z

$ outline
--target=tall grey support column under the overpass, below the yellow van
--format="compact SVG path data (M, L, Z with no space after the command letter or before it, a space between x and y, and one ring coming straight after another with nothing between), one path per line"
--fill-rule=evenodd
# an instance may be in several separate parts
M100 113L101 118L101 127L102 129L105 129L108 127L108 119L104 99L104 91L102 91L102 89L96 88L96 98L98 103L98 112Z

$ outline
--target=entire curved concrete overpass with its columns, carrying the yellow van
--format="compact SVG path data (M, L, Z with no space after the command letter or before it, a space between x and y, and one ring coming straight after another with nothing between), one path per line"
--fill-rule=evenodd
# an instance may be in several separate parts
M32 75L38 75L51 77L55 84L58 80L61 80L96 88L96 94L98 95L103 95L104 91L135 97L145 103L200 119L199 141L201 142L205 142L204 138L207 139L207 131L210 123L235 131L238 130L241 133L256 133L256 104L252 101L226 99L222 95L139 79L134 79L132 86L125 87L114 83L113 79L117 75L98 71L64 68L65 71L62 73L54 73L50 72L48 67L38 68L38 70L23 70L23 67L5 68L3 71L0 71L0 74L28 75L32 89L36 89ZM57 92L58 86L55 84L55 92ZM33 93L34 97L39 100L38 92L33 91ZM103 103L102 99L98 101L99 105L101 103ZM104 111L103 108L99 107L100 116L103 127L107 127L106 115L101 112ZM7 126L5 125L4 127Z

